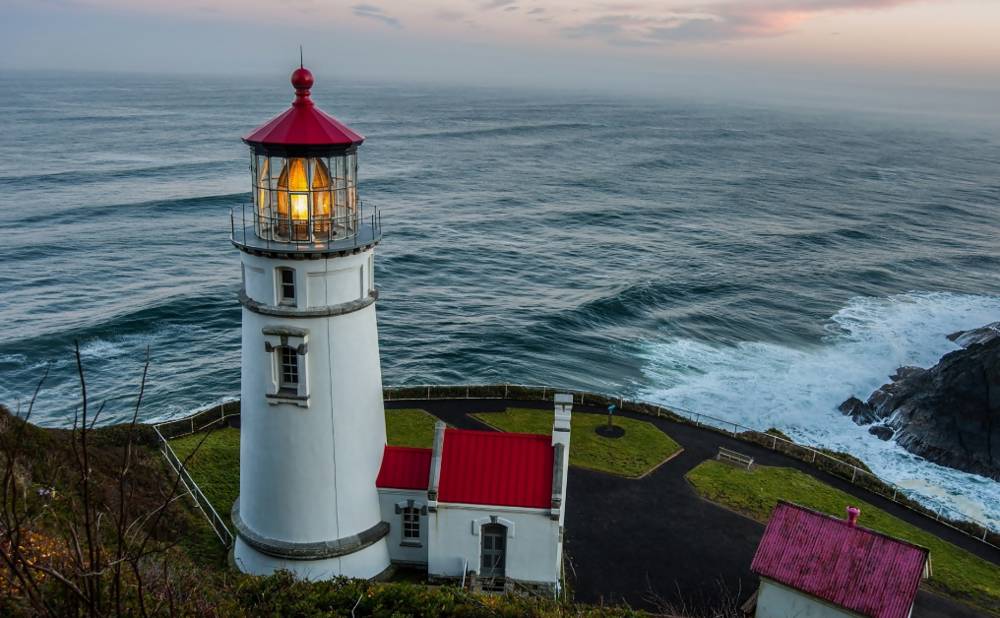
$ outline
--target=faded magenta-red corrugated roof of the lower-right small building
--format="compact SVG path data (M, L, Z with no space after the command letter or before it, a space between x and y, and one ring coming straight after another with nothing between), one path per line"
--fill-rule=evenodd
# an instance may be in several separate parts
M906 618L927 550L779 502L751 570L872 618Z

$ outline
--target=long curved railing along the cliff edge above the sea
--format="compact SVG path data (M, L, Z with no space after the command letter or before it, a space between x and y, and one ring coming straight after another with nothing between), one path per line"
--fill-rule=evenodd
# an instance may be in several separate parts
M883 481L868 470L851 462L834 457L819 449L798 444L783 436L759 431L739 423L700 412L692 412L678 407L665 407L643 401L628 400L621 395L593 393L570 388L552 388L525 384L460 384L460 385L414 385L387 386L383 389L385 401L402 400L452 400L452 399L501 399L510 401L550 401L556 393L569 393L579 405L606 407L610 404L619 410L667 418L675 422L701 427L720 434L753 443L816 466L819 470L837 476L857 487L881 496L887 500L933 519L944 526L982 543L1000 549L1000 531L989 524L970 518L948 507L929 508L910 497L910 492ZM201 410L172 421L157 424L157 434L161 439L172 439L203 431L216 423L239 416L239 402L231 401L218 407ZM164 441L166 440L164 439ZM176 458L176 456L175 456ZM192 481L193 483L193 481ZM212 509L214 513L214 509Z

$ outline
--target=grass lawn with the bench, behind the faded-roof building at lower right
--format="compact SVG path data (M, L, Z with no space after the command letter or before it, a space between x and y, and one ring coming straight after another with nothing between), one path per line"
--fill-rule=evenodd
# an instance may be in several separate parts
M931 550L932 588L1000 615L1000 567L804 472L769 466L748 472L709 460L688 472L687 479L703 498L760 522L767 521L779 499L835 517L844 517L844 509L850 504L858 506L860 525Z

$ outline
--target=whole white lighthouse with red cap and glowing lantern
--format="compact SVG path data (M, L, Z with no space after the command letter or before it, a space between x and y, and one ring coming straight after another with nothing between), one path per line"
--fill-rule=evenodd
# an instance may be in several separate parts
M375 479L385 447L375 323L377 213L357 195L364 138L295 101L243 141L253 206L233 216L243 268L240 497L246 573L375 577L389 566Z

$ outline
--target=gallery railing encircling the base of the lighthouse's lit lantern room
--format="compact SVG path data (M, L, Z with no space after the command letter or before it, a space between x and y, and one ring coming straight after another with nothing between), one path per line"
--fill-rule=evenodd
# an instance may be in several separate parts
M271 250L338 251L369 245L382 237L382 221L377 208L358 208L329 217L271 216L244 204L231 209L230 234L233 243Z

